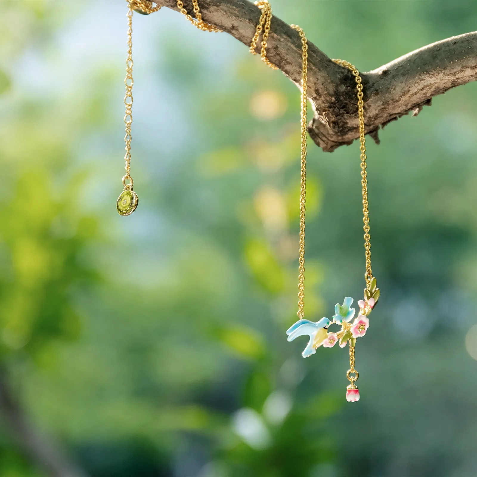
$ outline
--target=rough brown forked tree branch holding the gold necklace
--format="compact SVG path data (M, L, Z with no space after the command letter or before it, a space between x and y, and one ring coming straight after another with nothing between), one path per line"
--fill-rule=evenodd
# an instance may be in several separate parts
M176 0L159 3L177 10ZM200 0L199 3L204 21L250 44L260 17L259 8L252 2ZM192 12L192 1L184 0L184 7ZM354 77L311 41L308 48L308 97L314 110L308 132L323 151L331 152L359 137ZM276 17L271 21L267 56L291 81L300 83L300 37ZM366 133L379 142L381 127L404 114L417 115L437 94L477 79L477 32L437 41L361 75Z

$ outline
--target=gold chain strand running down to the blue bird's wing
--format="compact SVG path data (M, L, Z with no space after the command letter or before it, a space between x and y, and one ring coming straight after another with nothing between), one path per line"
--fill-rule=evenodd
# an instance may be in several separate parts
M308 91L308 44L303 30L291 25L301 37L301 159L300 159L300 247L298 255L298 317L305 316L305 212L306 212L306 112Z

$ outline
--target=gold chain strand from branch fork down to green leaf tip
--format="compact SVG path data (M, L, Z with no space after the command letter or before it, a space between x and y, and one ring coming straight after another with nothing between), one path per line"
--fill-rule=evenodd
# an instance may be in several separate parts
M361 151L361 186L363 194L363 230L364 230L364 255L366 257L366 272L364 279L366 285L373 280L373 270L371 269L371 236L369 235L369 208L368 208L368 173L366 172L366 145L364 138L364 101L363 101L363 83L359 71L349 62L344 60L333 60L335 63L348 68L353 73L358 90L358 117L359 117L359 140Z

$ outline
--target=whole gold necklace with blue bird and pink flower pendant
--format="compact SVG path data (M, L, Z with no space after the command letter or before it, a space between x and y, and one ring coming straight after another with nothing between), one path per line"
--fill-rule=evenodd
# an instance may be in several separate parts
M126 95L124 104L126 106L124 115L125 124L125 151L124 156L125 170L122 182L124 190L118 197L116 207L121 215L129 215L134 212L138 204L138 197L133 191L133 179L130 175L131 163L131 125L133 122L132 105L133 105L133 59L132 59L132 17L133 11L143 14L150 14L158 11L160 5L153 6L151 1L146 0L127 0L129 9L128 18L128 51L126 58ZM218 27L206 23L202 20L202 14L198 6L198 0L192 0L195 18L193 18L184 8L181 0L177 0L177 8L195 27L202 31L219 32ZM267 58L267 41L270 35L270 24L272 17L272 9L267 0L258 0L255 5L261 10L259 23L256 27L255 34L250 42L250 52L257 54L257 42L262 35L260 57L270 68L278 69ZM360 160L361 160L361 185L363 197L363 230L364 230L364 255L365 255L365 289L364 299L358 301L359 314L352 322L356 310L352 308L353 298L345 297L343 304L335 305L335 314L332 319L326 317L319 321L309 321L305 319L305 219L306 219L306 155L307 155L307 93L308 93L308 43L304 31L297 25L291 25L300 36L301 40L301 153L300 153L300 231L299 231L299 254L298 254L298 321L296 321L288 330L288 341L293 341L299 336L308 335L310 340L302 352L304 358L316 353L319 347L332 348L337 342L340 347L349 346L350 369L346 373L350 384L347 386L346 399L348 401L358 401L360 398L358 387L355 382L358 380L359 374L355 369L355 345L356 340L365 335L369 327L368 316L376 305L380 290L377 288L376 279L373 277L371 268L371 236L369 226L369 203L368 203L368 179L366 171L366 145L365 145L365 127L364 127L364 101L363 101L363 82L359 71L349 62L344 60L332 60L340 66L347 68L353 73L356 82L357 91L357 107L358 107L358 123L360 135ZM330 332L332 325L341 326L341 330Z

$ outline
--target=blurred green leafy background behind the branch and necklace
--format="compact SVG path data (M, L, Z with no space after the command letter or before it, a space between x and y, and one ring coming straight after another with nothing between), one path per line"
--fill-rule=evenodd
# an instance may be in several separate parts
M362 71L477 25L475 1L271 3ZM381 299L349 404L346 350L286 342L298 89L225 33L135 15L120 217L125 2L0 6L1 475L477 475L476 84L368 140ZM358 144L308 161L316 321L363 293Z

